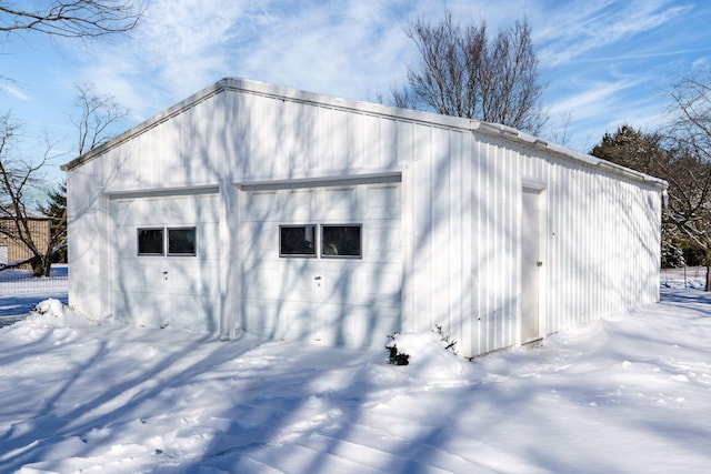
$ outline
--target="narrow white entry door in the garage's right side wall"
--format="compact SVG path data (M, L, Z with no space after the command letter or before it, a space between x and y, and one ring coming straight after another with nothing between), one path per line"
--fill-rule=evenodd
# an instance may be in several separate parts
M541 337L541 190L523 189L521 214L521 344Z

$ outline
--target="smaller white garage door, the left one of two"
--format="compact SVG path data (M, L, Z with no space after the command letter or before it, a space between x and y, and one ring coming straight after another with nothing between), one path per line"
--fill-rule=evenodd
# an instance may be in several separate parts
M219 331L217 203L217 194L111 200L117 319Z

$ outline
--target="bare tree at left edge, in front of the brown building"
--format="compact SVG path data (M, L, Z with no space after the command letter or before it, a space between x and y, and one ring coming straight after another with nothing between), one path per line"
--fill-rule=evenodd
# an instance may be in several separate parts
M51 255L58 244L51 236L40 236L33 224L42 216L28 206L32 191L42 182L41 170L51 158L51 143L37 162L17 155L22 127L9 113L0 117L0 234L26 246L36 276L49 275ZM43 240L42 240L43 239ZM18 262L20 263L20 262Z

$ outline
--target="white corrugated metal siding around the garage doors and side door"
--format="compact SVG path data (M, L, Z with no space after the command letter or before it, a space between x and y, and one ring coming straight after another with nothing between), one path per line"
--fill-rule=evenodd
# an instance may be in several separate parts
M89 269L101 192L390 171L403 173L403 331L442 324L463 355L519 343L525 180L544 186L547 333L657 301L658 190L465 121L438 127L334 103L221 91L72 170L81 280L99 280Z

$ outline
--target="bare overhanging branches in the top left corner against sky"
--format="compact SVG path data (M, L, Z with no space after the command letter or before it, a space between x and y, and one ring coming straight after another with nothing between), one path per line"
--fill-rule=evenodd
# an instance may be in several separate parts
M30 2L0 1L0 31L103 37L132 30L144 10L142 2L131 0L54 0L40 2L42 6L38 8L29 8L27 3Z

